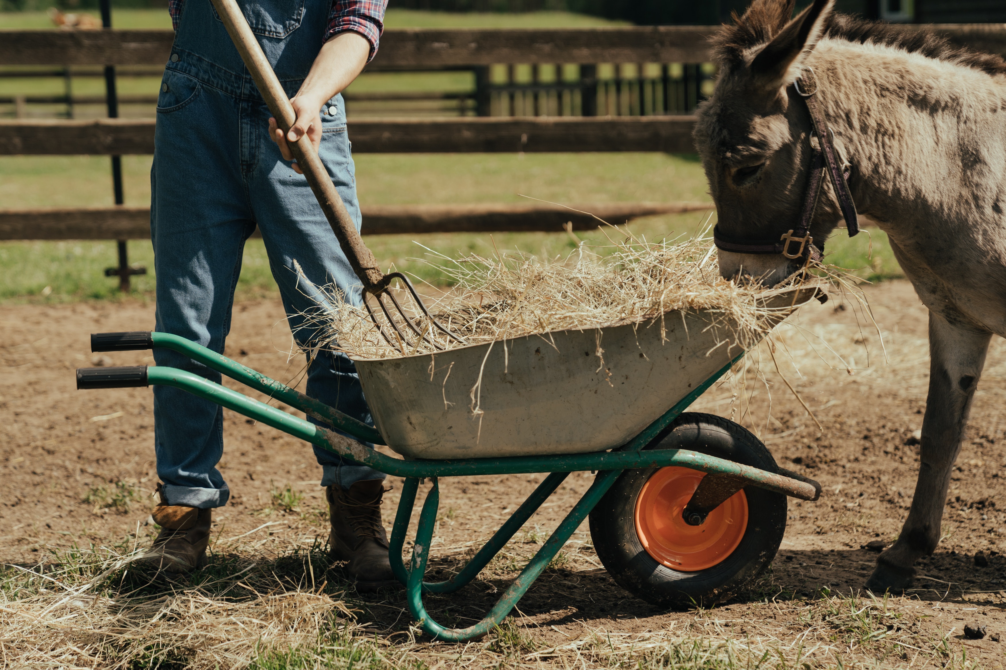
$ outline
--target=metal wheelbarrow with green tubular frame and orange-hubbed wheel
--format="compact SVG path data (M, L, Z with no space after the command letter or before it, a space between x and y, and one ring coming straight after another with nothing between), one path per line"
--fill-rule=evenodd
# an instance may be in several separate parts
M765 305L778 322L815 297L812 289L776 291ZM392 570L423 630L461 642L499 625L588 516L595 549L615 581L659 606L715 604L769 566L786 529L787 496L817 500L821 486L780 468L738 424L685 413L743 356L736 346L738 328L713 311L670 311L644 323L355 360L374 426L164 332L96 333L92 351L169 349L328 427L173 368L85 368L76 371L76 384L78 389L173 386L353 463L403 477L389 540ZM404 458L382 454L373 444ZM577 471L597 472L591 487L485 618L464 629L437 623L424 594L449 594L469 584ZM457 575L424 581L441 478L546 472ZM406 566L402 547L425 479L432 488Z

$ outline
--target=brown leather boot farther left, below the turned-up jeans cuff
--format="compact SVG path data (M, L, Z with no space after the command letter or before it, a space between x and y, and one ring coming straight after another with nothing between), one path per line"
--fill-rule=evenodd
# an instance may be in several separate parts
M143 563L168 576L181 575L206 565L209 524L212 509L164 504L164 493L157 488L161 501L151 516L161 526Z

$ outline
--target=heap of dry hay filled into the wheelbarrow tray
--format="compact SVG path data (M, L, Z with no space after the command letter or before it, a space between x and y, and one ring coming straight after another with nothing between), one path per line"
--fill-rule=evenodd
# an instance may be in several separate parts
M717 326L728 326L731 346L750 349L785 311L766 304L768 296L778 291L766 291L757 282L723 279L714 251L710 238L697 235L676 242L629 236L593 248L580 243L567 257L550 260L520 251L456 259L431 252L427 262L454 285L431 311L465 344L476 345L554 330L642 323L673 310L704 309L714 315ZM317 288L303 274L300 278L317 296L320 307L309 317L325 333L323 348L358 359L390 359L435 353L434 342L448 350L463 346L428 321L421 325L426 337L418 342L401 342L385 325L392 336L387 342L367 311L344 301L337 288ZM799 273L788 286L822 283L819 277ZM399 327L404 330L403 324Z

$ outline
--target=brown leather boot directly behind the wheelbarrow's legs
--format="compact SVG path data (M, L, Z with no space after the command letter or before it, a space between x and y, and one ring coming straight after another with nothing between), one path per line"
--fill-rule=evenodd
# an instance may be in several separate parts
M401 586L387 559L387 533L380 519L383 495L381 479L358 481L348 491L339 486L325 489L332 523L329 557L347 562L346 575L356 580L361 593Z

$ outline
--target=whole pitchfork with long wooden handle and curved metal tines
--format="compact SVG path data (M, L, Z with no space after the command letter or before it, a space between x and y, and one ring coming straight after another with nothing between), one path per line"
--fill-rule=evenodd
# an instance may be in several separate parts
M216 13L220 16L224 27L227 29L227 34L230 35L234 46L237 47L237 52L240 54L241 60L244 61L244 65L248 68L252 78L255 79L256 85L259 87L259 92L262 93L263 98L269 105L269 110L276 118L276 122L283 129L283 132L289 133L290 127L297 121L297 115L290 103L290 99L287 97L287 92L280 85L280 80L277 78L276 72L273 71L273 66L270 65L266 54L263 53L262 47L259 45L259 40L256 39L255 33L248 27L247 19L244 18L244 14L237 6L237 2L235 0L211 0L211 2L216 9ZM338 191L335 190L335 185L332 184L332 180L328 176L328 171L325 170L325 166L322 164L321 159L318 158L318 153L315 151L314 145L311 144L311 140L308 139L307 135L296 143L288 141L288 145L294 158L297 159L297 165L300 166L304 176L307 177L308 184L311 185L311 190L314 192L315 197L318 198L318 204L321 205L322 211L325 212L325 218L328 219L329 224L332 226L332 231L339 240L339 245L342 247L343 253L346 254L346 258L349 260L349 264L352 266L356 276L363 283L363 303L367 308L367 313L370 315L370 320L377 326L377 330L384 338L385 342L402 354L407 353L406 349L414 351L424 341L429 343L434 349L443 350L444 347L438 344L434 338L433 331L436 329L449 339L464 344L464 340L445 328L430 314L430 310L427 309L427 306L423 303L423 299L415 292L411 282L408 281L405 275L401 272L384 274L380 271L380 268L377 266L377 259L374 258L373 253L363 243L359 231L356 230L356 224L349 217L346 205L342 202L342 198L339 197ZM428 319L429 326L424 326L422 319L409 316L402 309L401 304L398 303L398 300L390 290L391 282L395 279L400 279L405 284L412 300L415 301L420 311L423 312L423 316ZM391 338L392 333L387 331L377 314L370 307L370 303L367 300L368 293L373 295L377 300L378 305L380 305L380 311L393 331L395 339ZM385 303L385 298L390 300L391 309ZM407 327L403 328L399 324Z

